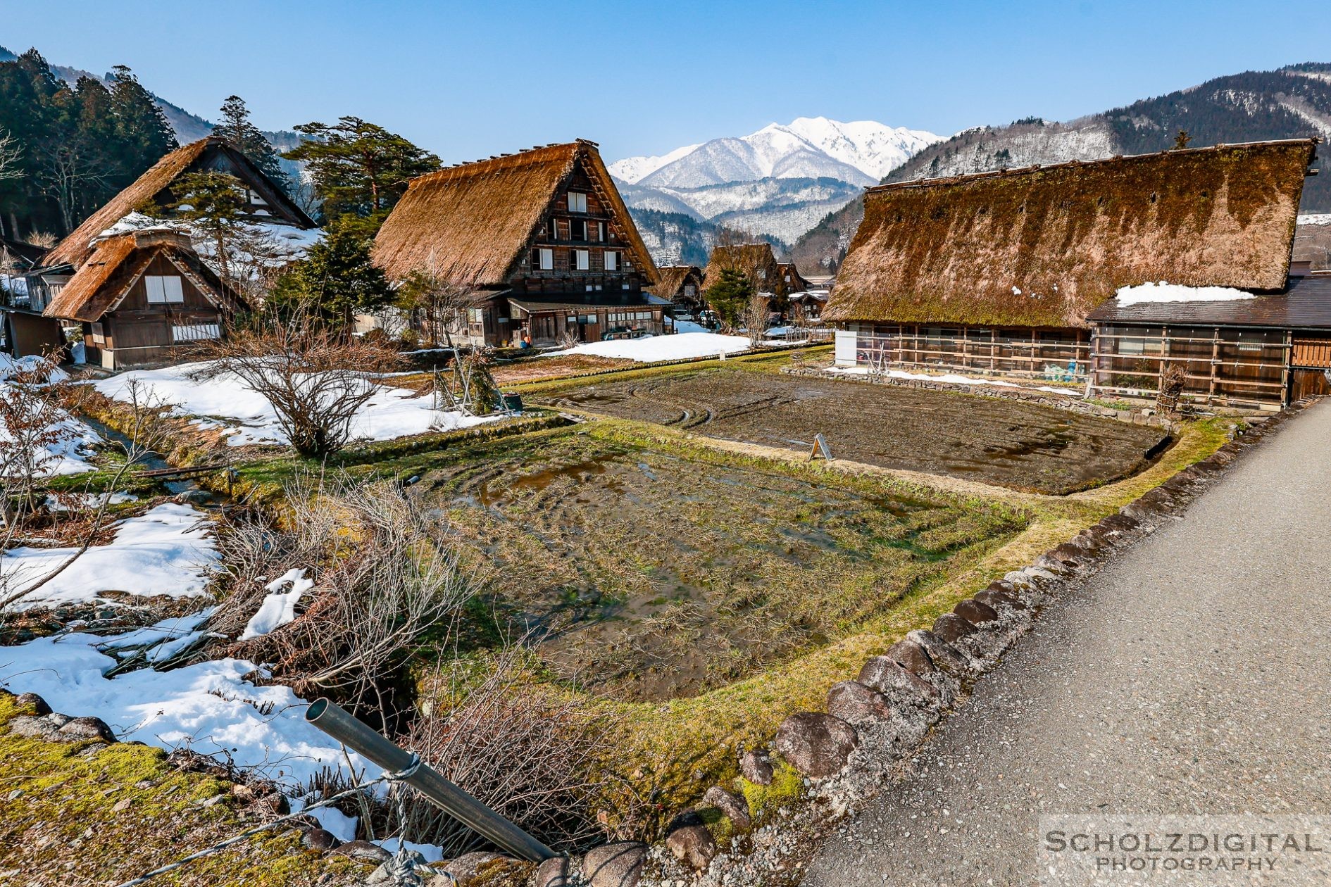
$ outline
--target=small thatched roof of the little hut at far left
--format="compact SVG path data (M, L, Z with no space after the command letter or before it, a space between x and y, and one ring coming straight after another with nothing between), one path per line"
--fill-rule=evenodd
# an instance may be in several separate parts
M236 307L236 295L198 259L189 237L148 230L106 237L61 287L43 311L49 318L100 320L129 293L134 282L158 255L165 255L180 273L218 306Z

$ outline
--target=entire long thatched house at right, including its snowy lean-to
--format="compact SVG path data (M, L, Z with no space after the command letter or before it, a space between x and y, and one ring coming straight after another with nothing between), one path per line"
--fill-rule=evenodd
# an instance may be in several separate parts
M1318 140L880 185L824 319L839 366L1276 408L1328 391L1331 275L1291 263Z

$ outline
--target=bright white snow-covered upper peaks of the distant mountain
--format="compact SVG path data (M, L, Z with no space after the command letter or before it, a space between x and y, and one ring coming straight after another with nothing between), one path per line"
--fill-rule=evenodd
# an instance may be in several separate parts
M741 138L713 138L660 157L628 157L610 165L631 185L701 188L760 178L837 178L873 185L938 136L870 120L843 124L799 117L769 124Z

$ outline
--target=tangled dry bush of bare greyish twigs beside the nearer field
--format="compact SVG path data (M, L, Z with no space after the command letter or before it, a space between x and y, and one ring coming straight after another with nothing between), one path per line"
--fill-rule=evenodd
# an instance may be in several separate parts
M458 565L439 519L395 483L305 481L286 497L284 528L254 521L224 533L232 590L209 628L238 637L266 582L303 568L315 582L307 609L222 652L272 664L274 680L301 696L330 694L391 717L386 686L426 632L446 632L459 617L475 577Z

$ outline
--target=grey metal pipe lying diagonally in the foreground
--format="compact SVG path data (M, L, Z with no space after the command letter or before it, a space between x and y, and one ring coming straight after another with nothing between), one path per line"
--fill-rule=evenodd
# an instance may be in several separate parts
M389 742L330 699L319 698L310 702L305 710L305 719L387 773L401 773L411 766L414 755L410 751L403 751ZM515 856L540 862L559 855L425 763L403 777L402 782Z

